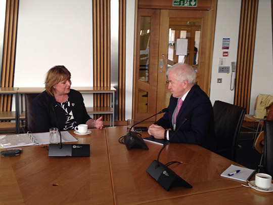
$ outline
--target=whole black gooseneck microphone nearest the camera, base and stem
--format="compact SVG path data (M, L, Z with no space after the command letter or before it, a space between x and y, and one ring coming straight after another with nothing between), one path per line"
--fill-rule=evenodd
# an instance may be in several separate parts
M171 169L168 168L169 165L172 165L173 163L180 163L178 161L170 161L166 163L166 165L163 165L159 161L159 156L162 150L166 147L167 144L170 143L170 140L174 137L174 135L177 133L177 131L185 124L187 120L189 120L192 117L192 113L188 113L186 117L184 118L183 122L179 126L178 129L175 130L169 141L165 142L163 147L158 153L157 160L153 160L146 172L153 177L164 189L167 191L170 190L173 186L184 186L188 188L192 188L192 185L190 185L188 182L186 182L184 179L179 177L175 172L173 172Z

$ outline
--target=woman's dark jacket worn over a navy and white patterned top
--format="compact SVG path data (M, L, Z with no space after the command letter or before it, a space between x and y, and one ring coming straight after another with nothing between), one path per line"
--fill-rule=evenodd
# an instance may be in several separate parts
M85 124L90 119L90 116L86 112L86 108L83 103L82 95L73 89L70 89L68 94L68 100L73 112L76 124ZM39 94L33 99L33 112L35 119L35 130L34 132L49 132L50 128L58 128L64 130L66 116L65 111L62 107L57 105L54 96L50 96L46 91ZM53 111L53 107L56 113Z

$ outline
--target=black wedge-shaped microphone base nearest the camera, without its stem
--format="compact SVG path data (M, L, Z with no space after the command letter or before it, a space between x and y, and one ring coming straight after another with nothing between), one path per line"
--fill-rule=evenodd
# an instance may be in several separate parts
M157 160L152 161L146 172L167 191L173 186L192 188L192 185Z

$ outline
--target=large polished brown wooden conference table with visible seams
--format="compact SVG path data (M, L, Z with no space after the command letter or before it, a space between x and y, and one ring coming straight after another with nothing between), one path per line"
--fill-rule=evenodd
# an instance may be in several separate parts
M73 136L90 144L90 157L48 157L41 146L22 147L20 156L0 157L0 204L270 204L273 194L243 187L220 177L232 163L198 145L172 143L159 160L193 188L166 191L146 169L157 158L161 145L149 150L131 149L118 142L126 127L92 129ZM147 133L142 133L147 136Z

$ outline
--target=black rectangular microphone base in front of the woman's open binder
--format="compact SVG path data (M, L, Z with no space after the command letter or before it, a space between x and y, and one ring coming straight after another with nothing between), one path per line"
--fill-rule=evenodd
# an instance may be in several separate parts
M49 156L90 156L89 144L60 144L49 145Z

